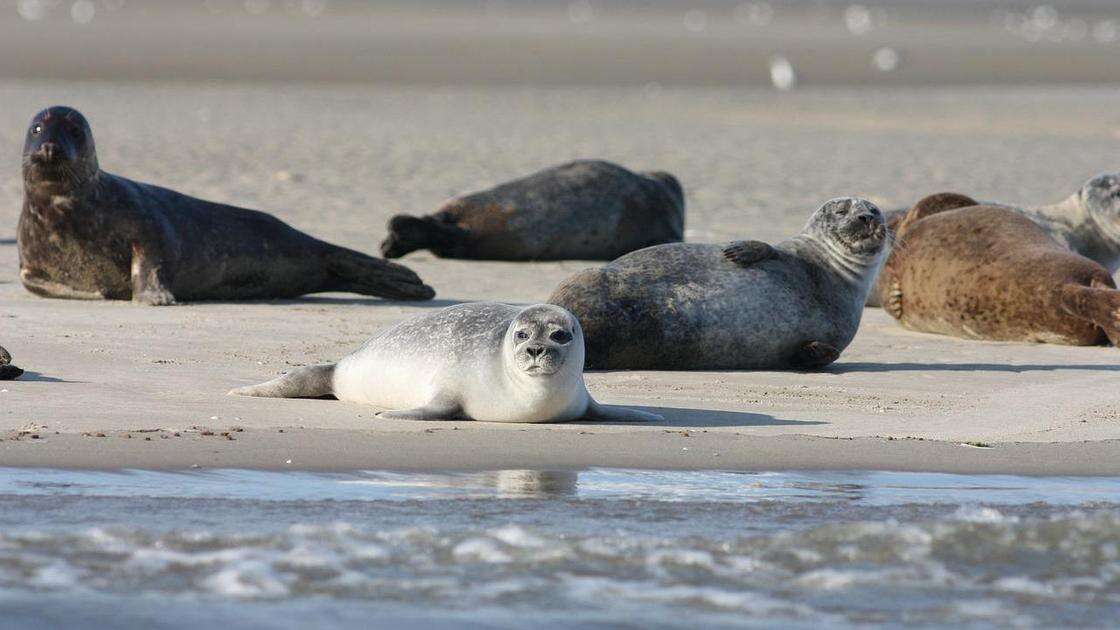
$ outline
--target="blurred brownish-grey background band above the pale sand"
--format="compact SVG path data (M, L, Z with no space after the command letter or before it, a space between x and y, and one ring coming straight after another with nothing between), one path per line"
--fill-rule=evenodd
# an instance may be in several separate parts
M0 77L1116 82L1116 0L0 0Z

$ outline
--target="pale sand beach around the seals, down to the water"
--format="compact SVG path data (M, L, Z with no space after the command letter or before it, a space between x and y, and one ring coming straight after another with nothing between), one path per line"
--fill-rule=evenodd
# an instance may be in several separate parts
M597 398L656 410L666 417L657 425L389 421L349 404L225 391L335 360L428 308L542 300L591 263L413 254L405 262L436 287L432 303L326 295L148 308L36 298L18 282L15 244L24 127L53 103L87 114L106 170L373 251L394 212L577 157L676 173L696 241L780 240L844 194L884 207L941 189L1056 201L1117 168L1117 95L3 82L0 344L28 374L0 383L0 466L1120 474L1116 349L967 342L868 309L823 373L588 374ZM222 435L234 427L244 430Z

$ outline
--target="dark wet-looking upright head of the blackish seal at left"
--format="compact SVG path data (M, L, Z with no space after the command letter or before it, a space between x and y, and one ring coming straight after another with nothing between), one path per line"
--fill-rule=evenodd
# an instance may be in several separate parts
M66 106L35 114L24 142L24 182L29 187L77 186L97 174L93 131L82 112Z

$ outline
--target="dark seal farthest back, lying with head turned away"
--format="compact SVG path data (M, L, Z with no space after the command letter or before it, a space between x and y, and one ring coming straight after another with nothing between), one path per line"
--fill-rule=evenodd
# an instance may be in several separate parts
M547 168L452 198L433 214L399 214L385 258L419 249L440 258L613 260L684 238L684 193L668 173L603 160Z

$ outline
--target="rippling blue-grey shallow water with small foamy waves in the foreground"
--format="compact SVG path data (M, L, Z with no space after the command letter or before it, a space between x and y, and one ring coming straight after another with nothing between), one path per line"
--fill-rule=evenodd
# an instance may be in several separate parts
M1117 478L0 469L0 628L1118 617Z

